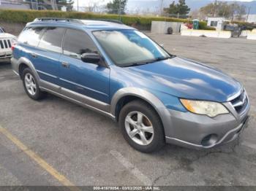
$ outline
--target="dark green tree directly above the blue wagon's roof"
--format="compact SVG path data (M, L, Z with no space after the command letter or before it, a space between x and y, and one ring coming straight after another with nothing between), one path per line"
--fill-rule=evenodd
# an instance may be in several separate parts
M124 15L124 9L127 6L127 0L113 0L107 4L108 13Z

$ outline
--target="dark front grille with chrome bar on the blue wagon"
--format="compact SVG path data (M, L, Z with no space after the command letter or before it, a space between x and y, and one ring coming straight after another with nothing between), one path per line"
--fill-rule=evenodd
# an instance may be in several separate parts
M240 95L238 95L238 97L231 100L230 103L233 105L234 109L236 109L238 114L243 113L246 109L246 106L248 105L248 97L245 90Z

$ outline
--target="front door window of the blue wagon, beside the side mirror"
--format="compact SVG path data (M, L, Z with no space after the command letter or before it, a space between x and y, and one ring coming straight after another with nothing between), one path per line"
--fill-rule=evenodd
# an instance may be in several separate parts
M83 53L97 53L97 47L90 36L83 31L67 29L64 36L64 54L80 57Z

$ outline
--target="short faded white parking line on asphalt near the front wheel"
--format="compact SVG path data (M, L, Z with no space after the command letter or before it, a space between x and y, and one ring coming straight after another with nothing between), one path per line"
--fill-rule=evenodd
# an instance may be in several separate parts
M150 186L152 184L151 180L148 179L146 175L144 175L138 168L135 167L135 165L132 165L132 163L129 163L129 161L121 155L120 152L117 152L116 150L111 150L110 154L115 157L121 165L124 165L125 168L127 168L136 178L140 180L144 185Z

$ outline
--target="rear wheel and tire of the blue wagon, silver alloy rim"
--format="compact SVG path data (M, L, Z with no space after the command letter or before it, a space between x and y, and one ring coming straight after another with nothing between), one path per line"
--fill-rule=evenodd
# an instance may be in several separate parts
M23 87L29 98L34 100L40 100L45 98L46 93L39 89L37 78L34 76L31 69L26 68L22 72Z

